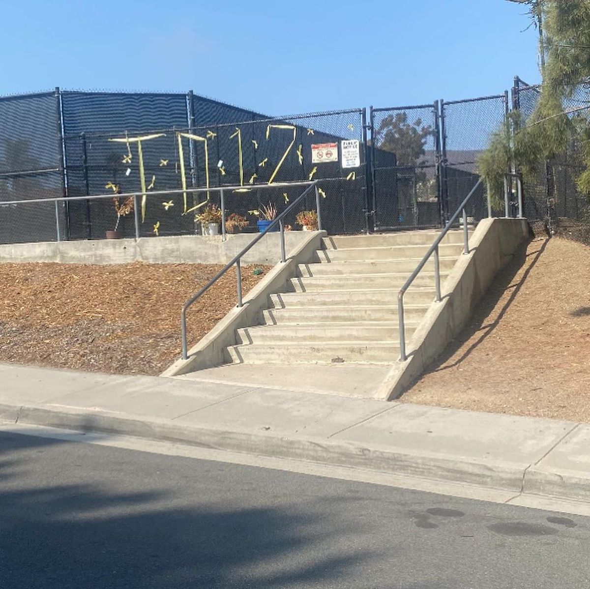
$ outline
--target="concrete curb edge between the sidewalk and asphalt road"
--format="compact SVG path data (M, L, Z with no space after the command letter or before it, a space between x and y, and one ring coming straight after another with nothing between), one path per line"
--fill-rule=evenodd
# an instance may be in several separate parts
M104 412L75 408L49 409L39 405L0 404L0 420L77 431L103 432L135 436L148 440L168 441L206 449L234 451L258 456L297 459L313 463L330 464L417 477L440 483L465 485L499 490L514 495L525 492L525 473L530 464L510 462L477 462L452 456L433 456L428 453L409 454L385 446L366 447L349 441L326 440L317 437L276 436L271 432L252 434L245 431L227 431L217 428L191 426L171 420L143 418L135 415L120 417ZM553 476L534 474L535 491L558 489ZM567 489L565 489L567 490ZM544 494L544 493L543 493ZM574 499L581 495L590 499L590 487L585 493L581 485L575 486ZM569 498L560 493L560 498Z

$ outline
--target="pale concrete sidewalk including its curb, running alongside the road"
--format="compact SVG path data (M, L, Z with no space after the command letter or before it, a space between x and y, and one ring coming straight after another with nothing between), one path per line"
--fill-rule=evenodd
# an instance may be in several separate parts
M0 365L0 420L387 473L520 505L590 503L590 425L567 421L18 365Z

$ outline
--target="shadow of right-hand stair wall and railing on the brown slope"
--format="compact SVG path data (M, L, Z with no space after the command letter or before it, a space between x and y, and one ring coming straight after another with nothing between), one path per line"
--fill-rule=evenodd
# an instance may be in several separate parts
M459 364L461 364L461 362L468 358L468 356L470 356L470 354L479 345L481 345L481 343L484 342L486 338L491 335L491 333L493 333L494 329L496 329L500 324L504 315L506 315L507 310L510 308L510 305L512 305L512 302L520 292L520 289L522 289L527 277L529 277L530 272L536 266L539 258L543 255L543 251L545 251L548 241L549 240L543 241L541 246L535 249L535 251L530 251L527 253L527 248L529 247L530 242L527 242L516 251L510 263L500 271L488 289L487 293L484 295L483 299L481 299L478 303L476 311L468 326L466 326L457 336L457 338L455 338L447 346L444 354L442 354L437 360L435 360L435 362L433 362L424 375L431 374L433 372L442 372L457 367ZM523 273L522 277L520 277L520 280L514 282L514 278L518 274L519 270L524 266L524 264L527 263L529 258L532 258L529 266ZM489 318L490 314L494 309L496 309L496 306L501 297L509 290L512 291L510 293L510 297L501 307L496 319L486 323L486 320ZM453 356L457 354L457 352L463 348L463 346L477 333L480 333L480 335L476 341L474 341L455 361L449 364L448 362L450 359L453 358Z

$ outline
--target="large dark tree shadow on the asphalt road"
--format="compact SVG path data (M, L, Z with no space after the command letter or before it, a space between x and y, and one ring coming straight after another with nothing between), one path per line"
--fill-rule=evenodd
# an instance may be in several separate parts
M145 490L138 491L136 477L125 483L132 478L132 458L106 464L109 452L117 450L0 432L0 587L338 586L371 555L318 549L310 557L310 546L359 529L328 525L317 505L231 505L203 496L203 487L187 499L191 473L175 481L163 469L150 473ZM59 456L67 456L67 467L60 469ZM116 478L97 484L89 456L99 461L97 470L114 469ZM55 469L48 467L54 463ZM211 462L205 470L214 479L224 467Z

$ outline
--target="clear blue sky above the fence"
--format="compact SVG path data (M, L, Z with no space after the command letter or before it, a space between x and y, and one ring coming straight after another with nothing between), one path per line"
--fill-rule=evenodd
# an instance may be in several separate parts
M193 89L266 114L405 106L539 81L505 0L2 3L0 94Z

